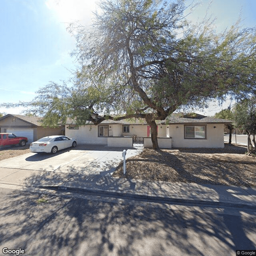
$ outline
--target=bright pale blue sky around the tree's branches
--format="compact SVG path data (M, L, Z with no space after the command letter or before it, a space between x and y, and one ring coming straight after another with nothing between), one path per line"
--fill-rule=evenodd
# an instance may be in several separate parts
M0 3L0 103L30 101L38 88L49 81L67 80L76 69L75 59L70 57L75 40L66 28L74 21L89 25L96 5L93 0L0 0ZM208 3L202 0L188 19L202 19ZM256 1L213 0L208 14L216 17L218 31L234 24L239 14L243 26L256 26ZM213 115L221 109L213 103L200 113ZM21 111L22 108L0 108L0 112L8 114L22 114Z

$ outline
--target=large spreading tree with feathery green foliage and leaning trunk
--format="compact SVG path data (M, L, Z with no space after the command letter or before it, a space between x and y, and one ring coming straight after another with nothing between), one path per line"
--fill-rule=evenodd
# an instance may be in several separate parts
M157 149L155 120L213 98L255 93L256 28L237 23L217 34L210 20L190 24L184 2L101 2L91 30L70 26L81 66L74 86L52 82L19 104L34 108L45 124L145 118Z

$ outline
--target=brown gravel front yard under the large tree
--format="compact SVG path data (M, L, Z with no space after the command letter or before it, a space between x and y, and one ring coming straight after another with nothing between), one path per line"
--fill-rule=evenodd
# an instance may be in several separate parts
M145 148L139 155L126 160L125 175L121 162L112 176L252 187L256 186L256 158L253 158L255 164L238 164L208 157L212 154L237 154L238 158L244 159L246 151L246 147L228 144L222 149L176 148L155 151Z

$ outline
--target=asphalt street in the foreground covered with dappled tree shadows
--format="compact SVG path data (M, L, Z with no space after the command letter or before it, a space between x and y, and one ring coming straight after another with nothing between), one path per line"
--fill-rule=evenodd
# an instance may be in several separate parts
M0 205L0 255L6 255L2 248L21 248L27 256L230 256L256 249L255 208L120 201L36 188L0 188Z

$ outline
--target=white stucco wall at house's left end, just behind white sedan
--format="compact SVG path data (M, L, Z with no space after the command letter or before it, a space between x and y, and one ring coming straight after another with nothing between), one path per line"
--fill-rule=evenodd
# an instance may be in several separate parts
M69 130L66 126L65 135L76 139L77 143L108 144L108 137L98 137L98 126L79 126L78 130Z

